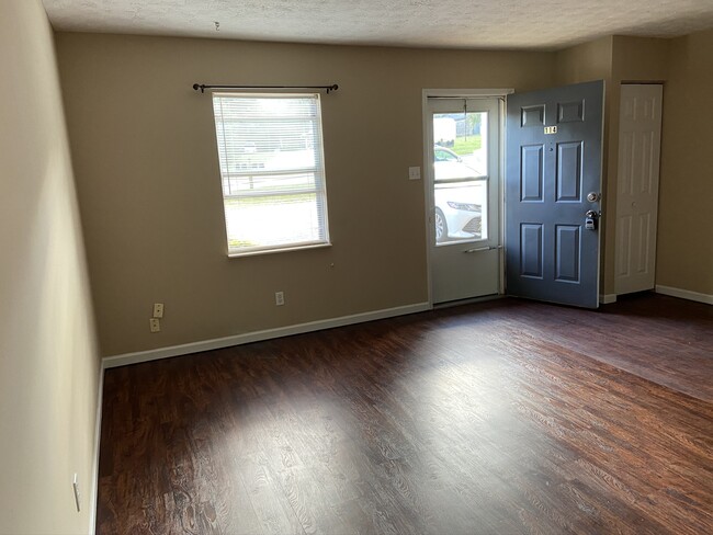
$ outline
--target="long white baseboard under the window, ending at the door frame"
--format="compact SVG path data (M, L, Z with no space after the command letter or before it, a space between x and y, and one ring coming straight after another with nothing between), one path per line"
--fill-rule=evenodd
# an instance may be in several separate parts
M159 348L149 351L138 351L136 353L125 353L122 355L105 356L102 360L104 368L112 368L117 366L127 366L129 364L138 364L140 362L157 361L159 358L169 358L171 356L188 355L197 353L200 351L211 351L220 348L229 348L231 345L241 345L245 343L260 342L262 340L270 340L280 337L290 337L292 334L302 334L304 332L319 331L322 329L332 329L335 327L343 327L353 323L363 323L365 321L374 321L377 319L393 318L395 316L405 316L407 314L422 312L430 310L431 306L428 303L417 303L416 305L406 305L403 307L386 308L383 310L374 310L371 312L354 314L351 316L341 316L339 318L331 318L320 321L310 321L308 323L298 323L288 327L279 327L276 329L267 329L263 331L246 332L244 334L235 334L233 337L217 338L214 340L203 340L200 342L191 342L181 345L171 345L168 348Z

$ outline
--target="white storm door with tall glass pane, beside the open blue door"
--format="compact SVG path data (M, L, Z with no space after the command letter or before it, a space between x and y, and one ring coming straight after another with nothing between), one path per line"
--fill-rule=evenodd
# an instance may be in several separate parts
M434 304L497 294L501 101L429 98L427 178Z

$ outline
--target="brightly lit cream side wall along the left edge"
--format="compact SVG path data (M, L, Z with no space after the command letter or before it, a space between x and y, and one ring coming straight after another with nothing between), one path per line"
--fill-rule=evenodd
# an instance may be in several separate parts
M0 2L0 533L88 533L99 358L39 0Z

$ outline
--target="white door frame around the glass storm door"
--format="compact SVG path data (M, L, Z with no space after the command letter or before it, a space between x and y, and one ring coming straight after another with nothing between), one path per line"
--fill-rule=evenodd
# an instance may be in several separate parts
M421 121L422 121L422 151L423 151L423 193L425 193L425 215L426 215L426 276L428 282L428 307L429 309L433 308L433 281L432 281L432 254L431 254L431 238L433 235L433 192L429 187L430 181L428 180L428 169L426 166L429 166L429 130L432 127L430 124L430 116L428 112L428 100L429 98L440 98L440 99L498 99L500 101L500 135L498 139L498 160L499 160L499 175L498 175L498 236L500 246L505 244L505 114L506 114L506 96L508 94L514 93L512 88L501 88L501 89L423 89L421 91ZM499 249L499 273L498 273L498 295L502 295L505 292L505 249L500 247ZM491 299L493 297L483 297L483 298L473 298L465 299L477 301L480 299Z

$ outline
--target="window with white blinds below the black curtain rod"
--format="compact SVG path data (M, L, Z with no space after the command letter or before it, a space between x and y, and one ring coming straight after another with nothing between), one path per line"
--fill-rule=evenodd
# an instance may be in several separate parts
M329 244L319 94L214 93L228 254Z

